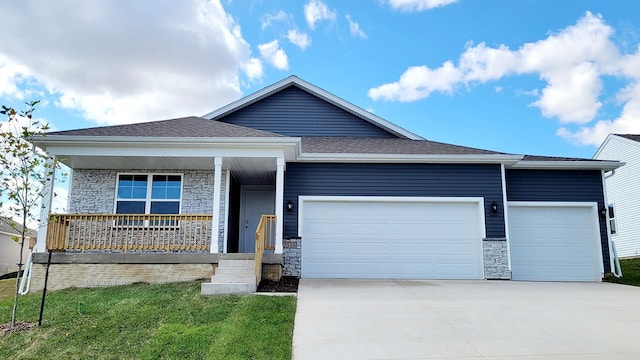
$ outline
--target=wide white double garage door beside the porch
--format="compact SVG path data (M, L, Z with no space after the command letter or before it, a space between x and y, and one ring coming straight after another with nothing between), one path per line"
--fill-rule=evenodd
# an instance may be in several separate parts
M302 277L483 277L482 199L300 200Z

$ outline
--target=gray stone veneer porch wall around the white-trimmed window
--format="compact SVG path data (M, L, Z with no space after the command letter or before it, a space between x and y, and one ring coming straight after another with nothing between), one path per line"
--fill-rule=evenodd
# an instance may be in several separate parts
M226 171L222 173L218 251L224 246ZM183 174L182 213L211 214L213 212L213 170L74 170L69 193L71 214L111 214L114 212L118 173Z

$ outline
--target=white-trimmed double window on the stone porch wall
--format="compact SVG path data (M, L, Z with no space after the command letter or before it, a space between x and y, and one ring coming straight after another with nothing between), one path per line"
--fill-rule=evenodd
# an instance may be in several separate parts
M180 214L181 174L118 174L116 214Z

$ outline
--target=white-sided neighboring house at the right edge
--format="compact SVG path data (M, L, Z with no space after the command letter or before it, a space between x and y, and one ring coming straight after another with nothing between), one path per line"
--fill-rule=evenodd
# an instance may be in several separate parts
M618 160L625 165L605 174L611 221L611 240L618 256L640 255L640 135L609 134L594 159Z

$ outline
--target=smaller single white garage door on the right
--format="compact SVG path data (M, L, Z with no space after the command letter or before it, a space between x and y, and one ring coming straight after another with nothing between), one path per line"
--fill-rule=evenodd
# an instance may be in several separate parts
M595 204L509 203L513 280L601 279Z

